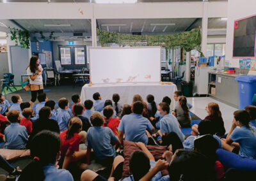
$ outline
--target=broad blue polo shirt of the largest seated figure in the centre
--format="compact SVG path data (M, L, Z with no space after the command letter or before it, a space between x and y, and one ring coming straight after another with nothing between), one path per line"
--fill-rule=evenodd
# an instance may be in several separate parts
M146 130L152 131L153 126L150 121L141 114L131 113L122 117L117 129L124 132L125 140L142 142L147 145L148 136Z

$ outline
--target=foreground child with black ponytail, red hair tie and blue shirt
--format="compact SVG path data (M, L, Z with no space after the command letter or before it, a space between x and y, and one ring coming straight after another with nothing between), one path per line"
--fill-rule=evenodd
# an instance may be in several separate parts
M60 136L52 131L44 130L36 134L31 142L33 161L22 170L18 181L61 180L73 181L69 171L56 168L60 157Z

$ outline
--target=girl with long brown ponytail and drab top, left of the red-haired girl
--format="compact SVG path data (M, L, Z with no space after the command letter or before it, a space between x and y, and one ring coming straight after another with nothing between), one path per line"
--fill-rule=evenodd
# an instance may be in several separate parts
M179 97L178 105L175 106L173 115L177 117L181 127L191 127L191 116L189 115L189 108L186 97Z

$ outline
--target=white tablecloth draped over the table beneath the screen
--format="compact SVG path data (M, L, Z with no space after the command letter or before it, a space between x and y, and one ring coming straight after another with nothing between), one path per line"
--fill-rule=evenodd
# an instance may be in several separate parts
M85 84L81 91L81 103L86 99L91 99L93 94L99 92L102 100L110 99L115 93L120 96L121 104L131 104L134 94L140 94L145 102L147 102L147 95L152 94L155 97L155 102L161 103L164 96L172 99L171 108L174 108L173 93L177 91L177 86L161 85L160 83L115 83L115 84L97 84L91 87Z

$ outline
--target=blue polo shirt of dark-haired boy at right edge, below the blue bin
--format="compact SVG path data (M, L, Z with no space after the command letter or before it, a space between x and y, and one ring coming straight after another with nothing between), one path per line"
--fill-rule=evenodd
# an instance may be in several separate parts
M237 127L230 134L230 139L239 143L241 157L256 159L256 128L251 126Z

